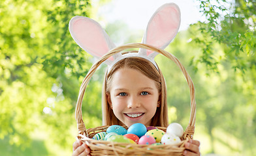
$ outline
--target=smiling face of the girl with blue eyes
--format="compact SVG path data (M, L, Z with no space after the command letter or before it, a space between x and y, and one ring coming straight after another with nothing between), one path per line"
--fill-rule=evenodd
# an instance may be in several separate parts
M133 123L150 125L159 107L155 81L130 68L117 70L112 76L107 97L115 116L128 127Z

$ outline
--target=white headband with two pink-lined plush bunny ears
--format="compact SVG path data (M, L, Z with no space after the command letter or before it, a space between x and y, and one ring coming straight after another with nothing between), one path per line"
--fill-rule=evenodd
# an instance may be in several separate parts
M156 10L148 22L142 44L165 49L178 33L180 27L180 8L174 3L167 3ZM116 47L104 29L93 19L75 16L69 21L71 36L84 51L97 59ZM105 61L110 69L116 62L127 57L142 57L150 60L156 68L154 58L158 53L139 49L138 53L117 53Z

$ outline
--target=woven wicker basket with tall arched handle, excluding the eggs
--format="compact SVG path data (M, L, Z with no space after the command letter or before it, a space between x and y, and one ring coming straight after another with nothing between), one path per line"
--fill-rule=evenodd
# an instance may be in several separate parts
M99 132L106 131L109 125L99 126L91 129L86 129L84 125L84 121L82 119L82 99L84 98L84 92L86 90L86 86L89 83L89 79L91 79L95 70L101 65L104 60L108 59L112 55L116 53L120 53L125 49L131 48L144 48L149 49L151 51L156 51L161 53L168 59L172 60L177 64L177 66L184 73L187 84L189 85L190 90L190 99L191 99L191 114L189 119L189 124L185 129L184 135L182 136L182 142L176 145L138 145L138 144L127 144L127 143L116 143L116 142L108 142L103 140L94 140L92 137ZM156 47L152 47L151 45L146 44L126 44L116 47L109 51L106 55L101 57L91 69L88 74L84 78L82 85L80 86L80 92L78 95L78 101L76 103L76 121L78 125L78 139L82 140L82 142L86 142L86 144L91 148L91 155L183 155L184 144L189 139L193 139L194 129L195 129L195 112L196 112L196 103L195 103L195 88L191 77L185 70L184 66L180 63L180 61L174 57L174 55L164 51L162 49L158 49ZM125 126L123 126L125 127ZM127 127L125 127L127 129ZM157 127L166 132L166 127Z

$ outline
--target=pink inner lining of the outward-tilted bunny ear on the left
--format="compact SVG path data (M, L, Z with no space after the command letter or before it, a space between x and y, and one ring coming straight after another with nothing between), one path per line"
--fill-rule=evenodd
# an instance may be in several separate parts
M100 58L109 51L104 30L99 24L88 19L77 19L72 25L72 31L76 43L90 55Z

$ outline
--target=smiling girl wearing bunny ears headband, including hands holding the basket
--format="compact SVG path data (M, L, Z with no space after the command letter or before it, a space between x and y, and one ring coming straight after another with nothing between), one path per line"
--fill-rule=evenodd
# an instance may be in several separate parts
M142 43L164 49L176 36L180 10L173 3L161 6L148 23ZM114 44L99 23L74 17L69 24L72 38L94 57L101 57ZM136 53L118 53L106 60L109 65L103 86L103 125L168 126L167 88L161 70L153 58L156 52L140 49ZM200 155L199 141L185 144L184 155ZM77 140L72 155L89 155L86 144Z

